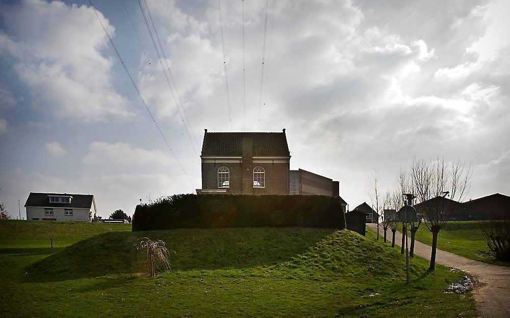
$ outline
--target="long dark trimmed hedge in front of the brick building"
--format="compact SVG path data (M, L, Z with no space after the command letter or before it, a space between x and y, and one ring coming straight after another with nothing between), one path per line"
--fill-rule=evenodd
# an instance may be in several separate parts
M138 205L133 230L303 226L345 228L340 201L324 195L175 194Z

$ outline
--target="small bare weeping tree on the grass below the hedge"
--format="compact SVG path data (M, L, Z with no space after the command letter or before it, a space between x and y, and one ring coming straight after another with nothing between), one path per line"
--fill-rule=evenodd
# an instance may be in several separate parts
M170 253L165 242L161 240L152 241L148 238L140 238L137 247L138 256L149 271L150 277L154 276L156 268L172 270L170 266Z

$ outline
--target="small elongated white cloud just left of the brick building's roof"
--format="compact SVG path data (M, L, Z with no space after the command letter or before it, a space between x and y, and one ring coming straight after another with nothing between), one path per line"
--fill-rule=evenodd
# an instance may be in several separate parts
M101 166L164 166L172 164L174 160L162 151L136 148L130 143L95 141L90 144L88 154L83 161Z

